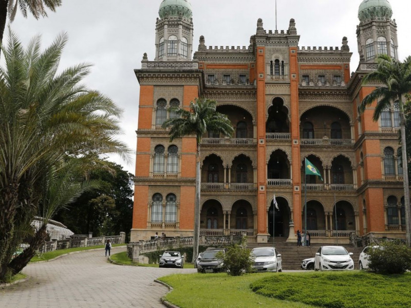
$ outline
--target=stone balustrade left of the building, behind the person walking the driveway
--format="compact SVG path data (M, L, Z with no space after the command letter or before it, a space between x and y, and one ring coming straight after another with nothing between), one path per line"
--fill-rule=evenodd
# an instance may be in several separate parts
M65 239L60 241L49 241L45 242L39 249L40 252L46 253L55 251L58 249L67 249L67 248L77 248L77 247L90 247L104 245L107 240L110 240L111 244L124 244L125 242L125 233L120 232L120 235L116 236L101 236L95 238L73 238Z

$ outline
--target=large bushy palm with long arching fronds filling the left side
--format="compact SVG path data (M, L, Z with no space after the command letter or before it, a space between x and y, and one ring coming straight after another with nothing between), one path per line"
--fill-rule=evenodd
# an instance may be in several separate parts
M41 51L40 38L26 50L9 31L0 67L0 280L6 275L18 225L38 212L46 171L70 158L93 161L130 150L116 136L121 110L101 93L81 84L89 64L59 70L67 36ZM43 190L42 190L43 189ZM19 243L20 244L20 243Z

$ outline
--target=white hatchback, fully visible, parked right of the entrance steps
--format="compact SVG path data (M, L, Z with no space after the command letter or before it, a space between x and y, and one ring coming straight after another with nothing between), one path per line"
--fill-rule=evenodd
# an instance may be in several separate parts
M354 269L352 253L343 246L321 246L314 257L315 271L342 271Z

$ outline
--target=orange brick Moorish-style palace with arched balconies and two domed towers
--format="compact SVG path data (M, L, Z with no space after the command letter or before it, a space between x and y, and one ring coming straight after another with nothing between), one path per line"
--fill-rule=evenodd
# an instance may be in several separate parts
M248 46L207 46L203 36L197 45L192 14L188 0L164 0L154 60L144 54L135 70L140 99L131 241L156 232L193 234L196 139L170 142L161 125L175 116L171 107L189 108L199 97L217 101L235 130L232 138L209 132L202 139L201 235L246 231L249 241L264 243L274 232L296 241L296 230L305 228L307 158L324 179L307 176L313 239L405 238L398 103L378 122L372 106L357 111L375 89L361 80L376 69L376 57L398 57L388 1L364 0L359 7L360 63L353 73L346 37L338 47L301 47L293 19L279 31L266 30L259 19Z

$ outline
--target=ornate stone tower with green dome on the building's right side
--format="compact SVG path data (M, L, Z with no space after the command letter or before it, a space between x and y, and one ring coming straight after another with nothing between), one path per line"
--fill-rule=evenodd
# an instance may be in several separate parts
M379 54L398 59L397 24L387 0L364 0L358 9L357 26L360 62L375 62Z

